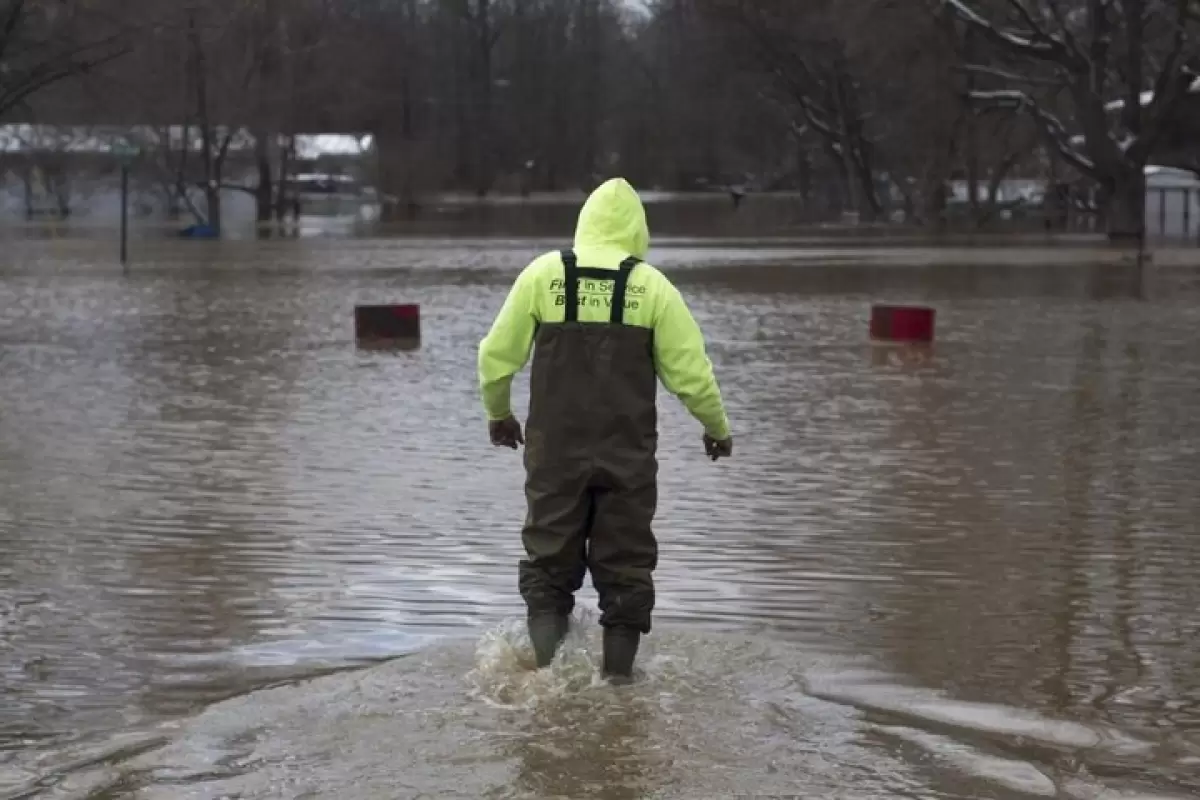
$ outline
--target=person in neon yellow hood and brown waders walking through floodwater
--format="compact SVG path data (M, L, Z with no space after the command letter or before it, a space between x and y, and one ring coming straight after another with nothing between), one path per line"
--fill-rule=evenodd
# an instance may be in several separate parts
M676 287L641 260L648 247L637 193L622 179L605 182L580 211L575 248L521 272L479 347L492 444L526 445L518 583L538 667L566 636L590 570L604 673L620 682L654 609L655 378L704 426L713 461L733 455L703 336ZM522 437L510 387L535 343Z

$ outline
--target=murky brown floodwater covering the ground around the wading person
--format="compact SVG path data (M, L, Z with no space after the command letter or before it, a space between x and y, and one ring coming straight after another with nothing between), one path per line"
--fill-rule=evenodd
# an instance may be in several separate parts
M659 246L737 446L662 396L618 690L590 587L528 668L475 395L551 243L5 242L0 798L1200 796L1200 272Z

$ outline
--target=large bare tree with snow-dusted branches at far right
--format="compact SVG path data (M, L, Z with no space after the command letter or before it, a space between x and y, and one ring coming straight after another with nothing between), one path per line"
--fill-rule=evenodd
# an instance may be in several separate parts
M991 43L970 68L977 103L1027 113L1100 186L1114 240L1145 237L1145 167L1195 85L1192 0L937 0ZM1062 110L1060 110L1062 109ZM1081 134L1081 144L1073 137Z

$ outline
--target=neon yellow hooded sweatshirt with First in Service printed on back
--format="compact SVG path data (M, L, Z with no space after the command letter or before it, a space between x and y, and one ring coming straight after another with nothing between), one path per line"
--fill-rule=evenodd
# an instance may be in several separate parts
M649 229L641 198L624 179L600 185L580 211L575 254L580 266L616 271L629 255L646 258ZM479 345L479 385L488 420L511 414L512 377L529 360L540 321L563 321L559 252L534 259L512 284L491 331ZM557 282L557 283L554 283ZM554 284L552 287L552 283ZM581 305L580 321L607 321L607 303ZM667 391L714 439L730 435L721 391L704 338L679 290L654 266L634 269L626 289L625 325L654 331L654 367Z

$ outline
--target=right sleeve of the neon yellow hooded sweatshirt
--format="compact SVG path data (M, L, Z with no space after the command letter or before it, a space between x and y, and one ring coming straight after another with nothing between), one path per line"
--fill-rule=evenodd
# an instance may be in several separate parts
M654 321L654 366L662 385L704 426L708 435L714 439L730 437L725 403L700 325L683 295L666 279Z

